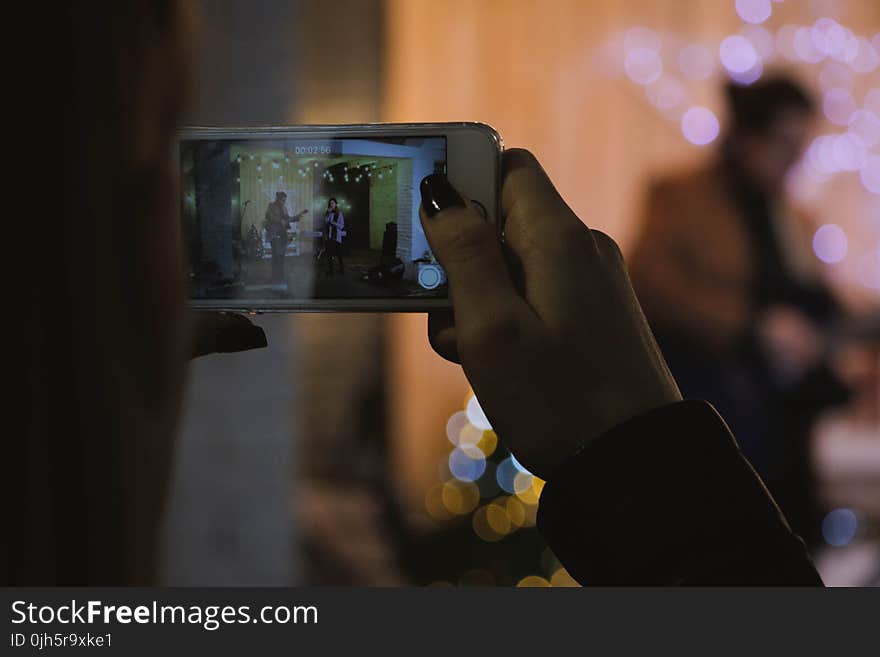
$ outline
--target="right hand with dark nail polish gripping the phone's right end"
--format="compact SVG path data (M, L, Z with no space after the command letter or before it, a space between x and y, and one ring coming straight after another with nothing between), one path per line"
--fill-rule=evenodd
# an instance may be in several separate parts
M429 316L429 339L460 360L517 459L547 478L579 446L681 394L614 241L575 216L531 153L507 151L503 167L503 244L445 176L422 181L422 225L454 312Z

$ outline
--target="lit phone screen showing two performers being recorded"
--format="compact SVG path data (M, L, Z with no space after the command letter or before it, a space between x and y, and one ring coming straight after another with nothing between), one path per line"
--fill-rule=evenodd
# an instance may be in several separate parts
M190 297L445 298L419 183L446 159L442 136L182 140Z

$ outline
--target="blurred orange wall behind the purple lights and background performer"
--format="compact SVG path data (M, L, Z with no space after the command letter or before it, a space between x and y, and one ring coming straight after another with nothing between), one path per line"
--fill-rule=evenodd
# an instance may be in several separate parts
M711 108L723 121L717 53L725 36L751 29L760 37L768 29L774 39L782 25L812 25L822 16L869 39L880 30L876 0L773 2L772 12L766 26L750 28L734 0L387 0L382 117L492 124L508 147L534 151L579 216L626 249L647 180L692 166L717 145L686 141L681 114L659 112L646 88L625 75L624 40L646 38L627 31L648 28L647 38L656 38L662 50L664 71L678 77L681 49L703 46L714 73L687 84L688 103ZM880 48L876 36L873 43ZM785 57L773 65L814 87L825 70ZM878 75L880 68L854 76L859 102L880 87ZM806 188L802 200L818 221L840 223L849 235L851 257L826 273L851 303L876 304L877 290L859 282L859 267L880 240L878 197L865 192L858 174ZM430 352L425 330L422 316L398 317L391 337L395 444L414 509L436 481L445 421L459 410L467 388L458 368Z

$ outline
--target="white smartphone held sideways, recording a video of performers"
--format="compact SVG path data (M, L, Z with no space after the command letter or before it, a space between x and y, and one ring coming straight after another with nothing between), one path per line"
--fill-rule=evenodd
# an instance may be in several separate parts
M197 309L449 306L419 185L450 182L501 230L502 142L482 123L185 128L180 224Z

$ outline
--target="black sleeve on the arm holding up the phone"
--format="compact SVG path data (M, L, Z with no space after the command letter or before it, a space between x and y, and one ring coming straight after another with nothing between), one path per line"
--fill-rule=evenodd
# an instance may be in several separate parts
M544 486L538 529L583 585L822 585L705 402L655 409L591 441Z

